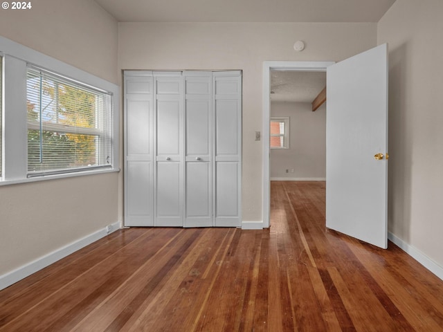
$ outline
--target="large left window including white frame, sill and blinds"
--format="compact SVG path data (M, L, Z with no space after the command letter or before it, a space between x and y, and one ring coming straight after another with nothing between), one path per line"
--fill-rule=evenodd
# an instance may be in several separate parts
M116 84L1 36L0 59L0 186L119 172Z

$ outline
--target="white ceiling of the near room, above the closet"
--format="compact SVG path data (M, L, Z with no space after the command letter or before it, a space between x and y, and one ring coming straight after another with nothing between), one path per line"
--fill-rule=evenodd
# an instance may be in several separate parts
M395 0L95 0L120 22L378 22Z

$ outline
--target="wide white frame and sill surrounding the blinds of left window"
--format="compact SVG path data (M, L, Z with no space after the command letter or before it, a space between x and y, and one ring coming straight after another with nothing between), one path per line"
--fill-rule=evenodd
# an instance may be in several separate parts
M0 185L45 181L89 174L119 172L119 107L120 89L114 83L82 71L60 60L12 42L0 36L0 53L3 54L3 140L2 175ZM28 65L93 86L111 94L113 120L111 128L111 167L91 168L78 172L63 172L28 177L28 117L26 108L26 73Z

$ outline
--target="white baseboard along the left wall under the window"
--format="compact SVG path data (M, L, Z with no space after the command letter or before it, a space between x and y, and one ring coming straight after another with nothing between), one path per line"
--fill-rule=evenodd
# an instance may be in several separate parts
M107 227L102 228L97 232L93 232L92 234L89 234L82 239L70 243L69 245L64 246L60 249L57 249L49 253L48 255L44 255L43 257L40 257L35 261L32 261L24 266L17 268L16 270L12 270L9 273L0 275L0 290L12 284L15 284L19 280L24 279L32 275L33 273L36 273L38 270L42 270L42 268L46 268L46 266L49 266L68 255L71 255L73 252L88 246L89 244L97 241L98 239L101 239L102 237L107 236L107 234L115 232L116 230L120 229L120 225L120 221L112 223L111 225L108 225Z

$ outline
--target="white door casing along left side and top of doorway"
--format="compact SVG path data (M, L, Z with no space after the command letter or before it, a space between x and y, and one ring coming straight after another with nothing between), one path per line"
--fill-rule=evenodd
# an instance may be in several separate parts
M269 188L269 118L271 113L271 100L269 98L270 75L269 71L326 71L327 66L335 62L298 62L298 61L265 61L263 62L263 119L262 119L262 137L263 140L263 226L269 228L269 206L270 206L270 188Z

